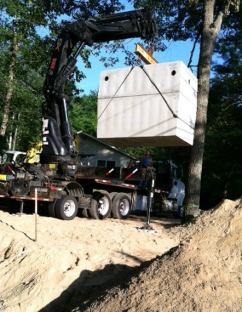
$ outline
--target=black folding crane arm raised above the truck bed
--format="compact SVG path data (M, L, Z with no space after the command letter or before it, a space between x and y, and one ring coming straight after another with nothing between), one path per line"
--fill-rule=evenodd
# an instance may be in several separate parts
M77 153L68 117L68 103L71 98L64 94L64 85L73 73L77 56L84 46L132 37L151 40L155 35L156 21L152 8L66 24L57 37L44 82L46 102L42 107L41 164L76 162Z

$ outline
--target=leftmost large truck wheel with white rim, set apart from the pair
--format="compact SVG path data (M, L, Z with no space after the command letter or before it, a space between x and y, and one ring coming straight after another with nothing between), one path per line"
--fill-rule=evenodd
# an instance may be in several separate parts
M64 195L56 201L55 214L62 220L73 220L77 215L78 204L74 196Z

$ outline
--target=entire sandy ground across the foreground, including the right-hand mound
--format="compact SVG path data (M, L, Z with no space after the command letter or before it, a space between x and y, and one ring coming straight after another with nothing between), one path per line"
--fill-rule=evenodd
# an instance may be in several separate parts
M242 200L196 223L0 211L1 311L242 311Z

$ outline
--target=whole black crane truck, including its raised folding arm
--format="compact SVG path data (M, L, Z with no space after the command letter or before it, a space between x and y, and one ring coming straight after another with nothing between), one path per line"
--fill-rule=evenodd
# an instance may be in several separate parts
M24 163L15 178L0 184L0 197L8 198L9 205L23 207L37 200L48 208L48 214L62 220L72 220L78 209L82 215L104 220L128 218L137 202L149 198L153 187L153 209L178 211L184 197L184 185L176 177L176 166L171 162L157 162L156 168L90 167L77 162L77 148L68 116L71 98L64 94L77 56L85 45L140 37L153 40L156 21L152 8L105 15L66 24L57 37L50 60L43 92L42 150L39 163ZM164 189L154 187L153 181L165 174L169 179ZM169 175L169 177L168 177ZM142 184L142 181L146 181Z

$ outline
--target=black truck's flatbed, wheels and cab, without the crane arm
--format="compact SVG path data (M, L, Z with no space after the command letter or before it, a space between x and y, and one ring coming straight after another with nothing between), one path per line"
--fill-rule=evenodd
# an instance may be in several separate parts
M173 186L164 184L165 180L159 175L160 164L162 170L164 167L169 169ZM51 167L55 165L49 165L49 171ZM55 168L52 170L54 175ZM63 220L75 218L78 209L83 216L100 220L110 216L126 219L131 211L146 210L149 206L151 211L165 210L177 214L183 202L184 184L176 177L176 167L172 162L157 162L156 168L106 168L77 164L75 172L75 177L70 180L58 176L50 179L37 165L25 165L19 168L14 180L0 184L0 198L8 198L9 206L19 205L21 210L26 203L37 200L40 207L48 209L49 216ZM160 179L163 179L165 188L156 187ZM179 183L182 187L174 192Z

